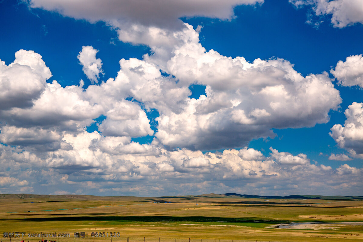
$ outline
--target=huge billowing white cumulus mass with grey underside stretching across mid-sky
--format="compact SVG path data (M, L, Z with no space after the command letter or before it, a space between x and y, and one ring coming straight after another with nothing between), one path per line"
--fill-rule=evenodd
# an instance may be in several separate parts
M272 128L326 123L328 112L341 102L327 73L303 77L283 59L249 63L206 52L190 25L180 31L173 37L180 42L171 45L172 57L154 53L144 60L122 59L115 79L85 91L53 81L32 108L13 108L3 117L17 127L80 132L103 114L98 126L103 135L140 137L154 134L143 105L159 112L155 137L167 148L220 149L274 137ZM160 65L175 78L163 76ZM207 86L206 95L188 98L193 83ZM126 101L129 97L140 104Z

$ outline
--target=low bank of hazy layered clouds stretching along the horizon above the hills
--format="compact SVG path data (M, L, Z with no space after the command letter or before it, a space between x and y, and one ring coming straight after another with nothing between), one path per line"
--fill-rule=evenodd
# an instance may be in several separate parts
M135 153L137 149L128 147L133 143L130 139L107 138L97 132L64 135L62 139L72 149L47 152L45 157L30 157L25 151L0 145L0 176L10 173L3 179L2 191L29 190L32 185L35 192L52 193L52 184L56 184L68 193L81 189L83 193L105 195L121 192L150 196L158 191L173 194L175 189L183 194L196 189L200 193L234 190L269 194L286 189L298 194L314 189L320 194L348 194L362 186L362 169L347 164L337 169L317 166L310 164L304 154L294 156L275 149L270 157L247 161L235 149L203 154L188 149L167 151L151 144L144 145L148 153ZM124 152L118 152L122 147L126 147Z

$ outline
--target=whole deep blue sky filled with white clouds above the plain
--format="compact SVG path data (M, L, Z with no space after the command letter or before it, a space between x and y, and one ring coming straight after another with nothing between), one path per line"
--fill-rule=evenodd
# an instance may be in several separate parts
M360 1L197 2L1 1L0 193L362 195Z

